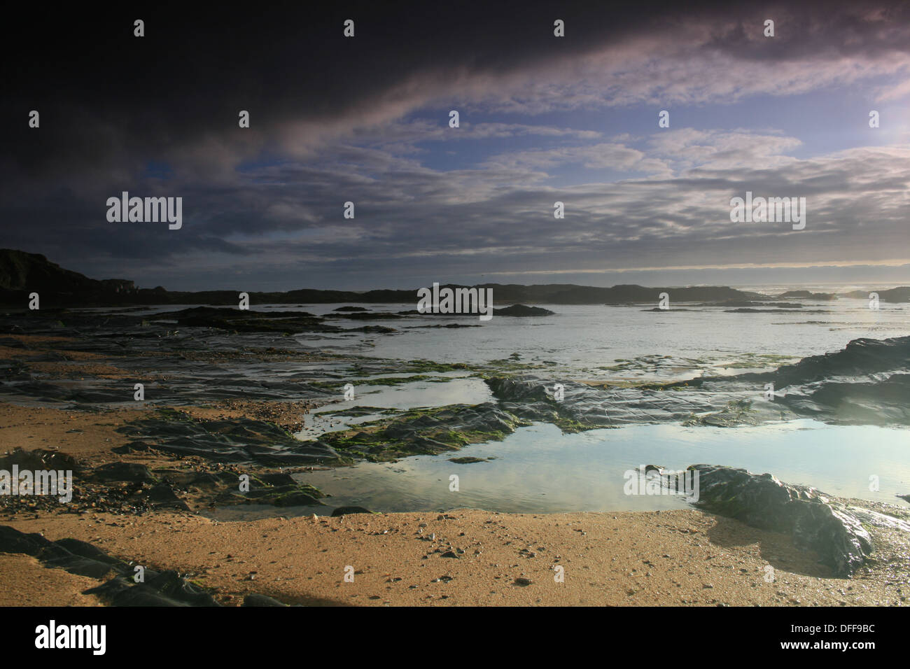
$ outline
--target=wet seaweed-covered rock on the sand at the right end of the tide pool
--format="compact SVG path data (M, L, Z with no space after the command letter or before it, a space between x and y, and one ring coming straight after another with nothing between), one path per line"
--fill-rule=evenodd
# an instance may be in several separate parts
M794 543L818 553L839 577L849 577L872 552L872 537L846 508L835 508L823 492L788 485L769 473L693 464L698 471L698 506L753 527L793 535Z

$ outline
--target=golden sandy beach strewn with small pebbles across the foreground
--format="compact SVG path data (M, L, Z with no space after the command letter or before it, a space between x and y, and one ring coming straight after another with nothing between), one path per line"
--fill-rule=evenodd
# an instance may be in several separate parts
M186 460L112 453L123 443L116 426L136 413L4 403L0 435L32 448L59 444L93 464ZM77 512L7 512L0 524L177 570L227 605L250 593L307 605L905 605L908 591L899 558L908 546L900 536L886 538L895 562L880 557L853 579L837 579L787 535L694 510L217 522L189 512L98 513L90 504ZM39 580L41 587L32 587ZM98 605L95 595L82 593L100 583L32 557L0 554L3 605Z

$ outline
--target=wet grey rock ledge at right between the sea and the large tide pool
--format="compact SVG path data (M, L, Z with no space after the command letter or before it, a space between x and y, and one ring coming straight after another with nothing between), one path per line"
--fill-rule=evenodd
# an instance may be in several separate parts
M733 427L799 417L848 424L910 425L910 337L851 341L762 373L699 377L628 387L595 386L525 374L487 385L501 408L528 421L575 421L581 428L682 422ZM764 399L773 384L773 400ZM556 384L562 399L555 399Z

